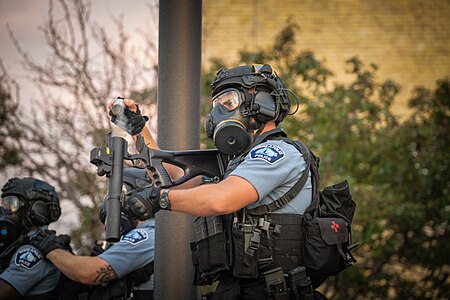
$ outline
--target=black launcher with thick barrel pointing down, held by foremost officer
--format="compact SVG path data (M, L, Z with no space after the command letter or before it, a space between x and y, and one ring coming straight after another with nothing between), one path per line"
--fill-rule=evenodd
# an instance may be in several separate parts
M161 188L180 185L199 175L222 179L227 163L226 157L217 149L179 151L151 149L145 145L142 136L136 141L138 154L130 154L127 149L128 143L125 139L108 134L106 147L94 148L90 153L90 162L97 166L97 175L106 175L109 179L105 223L108 242L120 239L124 160L130 160L134 166L149 170L154 179L153 184ZM164 164L181 168L184 175L173 180Z

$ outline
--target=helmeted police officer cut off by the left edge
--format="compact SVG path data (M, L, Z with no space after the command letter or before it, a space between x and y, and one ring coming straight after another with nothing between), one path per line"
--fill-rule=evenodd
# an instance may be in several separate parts
M27 177L12 178L3 186L0 299L57 299L60 272L29 244L29 238L60 215L58 195L48 183Z

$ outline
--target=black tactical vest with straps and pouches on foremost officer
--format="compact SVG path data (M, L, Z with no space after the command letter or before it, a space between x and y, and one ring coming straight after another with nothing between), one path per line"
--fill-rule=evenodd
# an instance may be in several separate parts
M282 130L274 129L260 135L246 152L231 160L225 177L253 147L269 139L282 139L294 145L306 160L305 172L283 197L270 204L243 208L225 216L196 218L196 241L191 243L191 250L198 285L211 284L223 273L251 279L281 268L283 276L283 272L303 264L303 215L271 212L295 198L303 188L309 166L315 163L309 150L288 139ZM317 182L313 180L313 193L318 188Z

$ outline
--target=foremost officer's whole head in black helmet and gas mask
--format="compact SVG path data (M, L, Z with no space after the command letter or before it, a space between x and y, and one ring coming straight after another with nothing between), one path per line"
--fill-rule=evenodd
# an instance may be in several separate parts
M242 153L265 123L278 125L291 106L287 89L268 64L221 69L211 90L213 109L206 117L205 131L227 155Z

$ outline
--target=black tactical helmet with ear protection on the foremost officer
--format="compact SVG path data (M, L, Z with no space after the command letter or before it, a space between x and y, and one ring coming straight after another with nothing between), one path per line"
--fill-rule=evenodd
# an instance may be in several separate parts
M280 77L268 64L239 66L221 69L211 83L212 98L227 88L239 88L245 94L243 116L252 116L265 123L269 120L279 124L289 113L291 101ZM266 93L250 94L249 90Z

